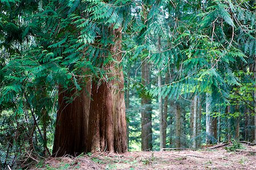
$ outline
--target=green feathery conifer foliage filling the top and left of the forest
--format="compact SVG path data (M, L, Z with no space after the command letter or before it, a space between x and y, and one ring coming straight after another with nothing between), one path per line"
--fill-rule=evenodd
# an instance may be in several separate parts
M141 142L142 96L152 99L155 150L159 96L184 104L187 147L185 99L195 94L204 101L205 93L210 93L212 112L224 118L245 116L246 108L255 114L254 1L1 0L0 10L1 168L26 167L51 155L58 86L81 90L86 85L83 77L111 81L114 77L105 69L109 63L122 65L126 89L131 89L130 149L138 149ZM121 63L110 52L111 30L120 27ZM151 82L146 86L141 84L141 61L151 65ZM169 82L158 86L159 75ZM217 111L237 105L240 111ZM173 126L174 122L168 125Z

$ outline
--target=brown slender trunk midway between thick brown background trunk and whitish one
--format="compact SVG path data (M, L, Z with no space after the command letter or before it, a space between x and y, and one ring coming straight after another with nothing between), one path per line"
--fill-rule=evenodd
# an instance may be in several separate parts
M175 102L175 118L176 118L176 147L181 146L181 111L179 103Z

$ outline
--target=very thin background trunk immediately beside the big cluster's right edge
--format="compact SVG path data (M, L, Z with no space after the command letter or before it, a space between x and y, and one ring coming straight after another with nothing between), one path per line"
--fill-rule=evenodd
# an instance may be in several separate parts
M130 106L130 73L127 74L127 81L126 81L126 117L128 117L127 113L129 111L129 106ZM127 143L127 150L129 151L129 117L126 118L126 143Z

